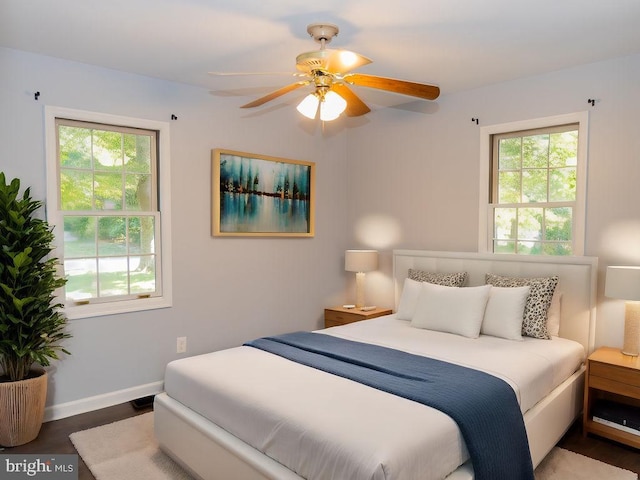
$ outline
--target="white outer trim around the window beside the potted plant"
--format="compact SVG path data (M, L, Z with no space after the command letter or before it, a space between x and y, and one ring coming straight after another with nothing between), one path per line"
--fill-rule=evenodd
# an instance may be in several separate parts
M172 305L171 282L171 184L170 184L170 143L169 123L146 120L106 113L89 112L63 107L45 107L45 145L46 145L46 174L47 174L47 221L55 227L54 233L64 231L62 211L60 210L60 185L58 175L56 118L66 118L83 122L92 122L123 127L156 130L158 132L158 211L160 212L160 249L161 285L159 296L135 299L114 299L113 301L75 304L58 301L65 304L64 313L69 319L88 318L118 313L129 313L157 308L167 308ZM62 235L55 236L55 250L53 255L64 258L64 241Z

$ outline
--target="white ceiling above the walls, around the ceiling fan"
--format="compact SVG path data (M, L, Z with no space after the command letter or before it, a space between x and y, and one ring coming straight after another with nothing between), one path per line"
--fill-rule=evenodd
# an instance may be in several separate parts
M240 104L291 80L207 72L294 72L296 55L319 48L314 22L340 27L331 48L373 59L359 72L443 94L640 53L639 0L0 0L0 46Z

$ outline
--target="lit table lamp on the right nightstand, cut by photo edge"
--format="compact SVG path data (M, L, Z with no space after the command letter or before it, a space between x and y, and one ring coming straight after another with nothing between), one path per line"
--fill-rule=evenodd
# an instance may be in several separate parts
M607 267L604 294L626 300L622 353L633 357L640 352L640 267Z

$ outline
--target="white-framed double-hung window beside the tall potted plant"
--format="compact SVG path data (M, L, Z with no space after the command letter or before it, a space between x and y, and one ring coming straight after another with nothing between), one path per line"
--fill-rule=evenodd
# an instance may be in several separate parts
M48 216L67 314L168 306L166 124L58 110L47 115Z

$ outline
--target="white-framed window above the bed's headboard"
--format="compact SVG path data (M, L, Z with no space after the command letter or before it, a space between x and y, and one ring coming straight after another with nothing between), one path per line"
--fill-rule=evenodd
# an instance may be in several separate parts
M483 129L481 250L584 253L586 131L580 114Z

